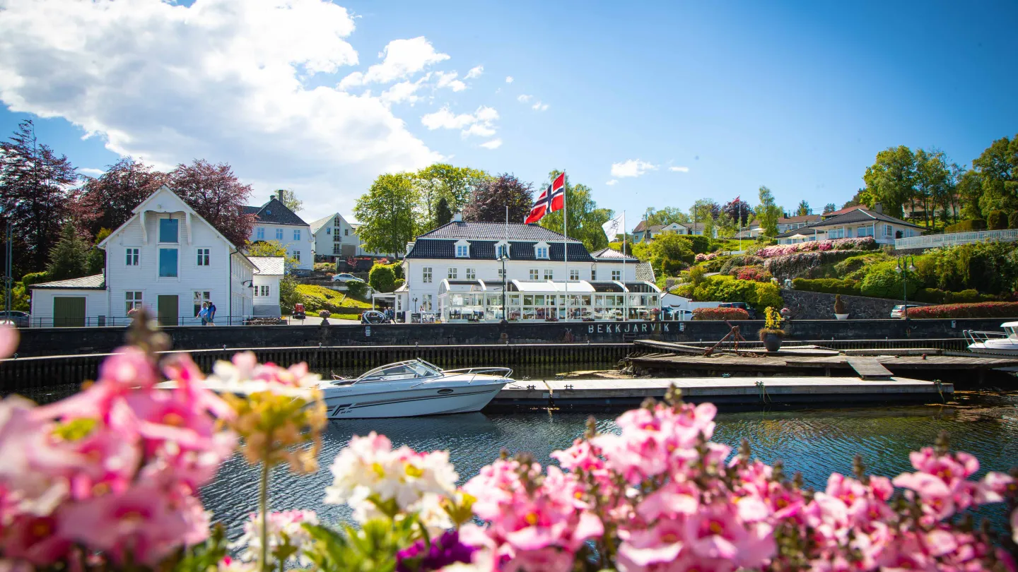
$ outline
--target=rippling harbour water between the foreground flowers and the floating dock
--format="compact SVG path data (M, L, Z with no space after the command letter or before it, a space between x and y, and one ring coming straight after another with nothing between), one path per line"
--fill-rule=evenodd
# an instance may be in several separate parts
M753 454L765 462L781 459L788 474L801 471L805 482L823 489L832 471L850 474L855 453L861 453L869 472L894 476L911 470L908 452L932 444L947 431L952 448L975 454L981 475L1018 465L1018 393L959 393L959 406L867 407L781 412L739 412L718 415L714 440L737 448L749 441ZM329 465L353 435L384 434L398 447L418 451L448 449L460 482L475 475L503 448L529 451L542 463L549 454L568 447L584 430L587 414L547 411L468 413L401 419L343 419L329 422L319 457L320 470L294 475L285 468L272 474L271 510L313 509L325 521L348 520L346 507L324 505L324 489L332 481ZM596 415L599 431L616 431L617 413ZM215 518L231 535L239 533L247 514L257 508L258 472L243 459L226 462L202 497ZM995 521L1003 509L987 513Z

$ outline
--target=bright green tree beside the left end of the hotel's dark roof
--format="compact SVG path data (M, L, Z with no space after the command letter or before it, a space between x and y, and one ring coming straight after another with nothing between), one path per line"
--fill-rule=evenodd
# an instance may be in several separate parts
M418 198L413 175L379 175L353 208L353 216L360 221L357 236L364 249L387 252L393 258L402 252L417 230L414 206Z

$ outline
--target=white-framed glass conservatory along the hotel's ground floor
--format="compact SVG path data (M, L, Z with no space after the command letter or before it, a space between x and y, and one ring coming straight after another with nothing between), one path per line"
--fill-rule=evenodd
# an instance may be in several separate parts
M503 294L505 300L503 302ZM651 282L443 280L443 322L593 322L653 320L661 310L661 289Z

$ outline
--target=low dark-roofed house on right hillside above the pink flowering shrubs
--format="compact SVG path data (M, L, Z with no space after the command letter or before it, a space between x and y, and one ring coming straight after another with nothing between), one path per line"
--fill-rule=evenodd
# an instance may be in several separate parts
M894 244L895 238L921 234L922 227L885 215L878 205L872 211L864 207L852 207L818 223L787 230L777 238L780 244L794 244L807 240L872 236L880 244Z

